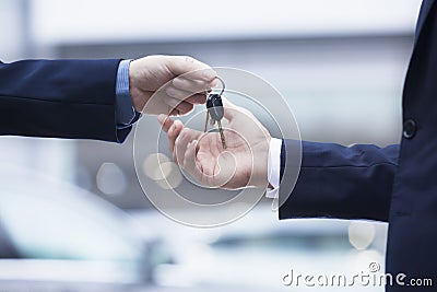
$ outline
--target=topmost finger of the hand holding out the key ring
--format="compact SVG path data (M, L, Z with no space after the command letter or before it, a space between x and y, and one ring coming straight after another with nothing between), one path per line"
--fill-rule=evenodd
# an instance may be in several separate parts
M187 56L173 56L168 58L167 68L175 75L186 74L191 80L211 81L216 77L216 72L199 60ZM189 73L189 74L187 74Z

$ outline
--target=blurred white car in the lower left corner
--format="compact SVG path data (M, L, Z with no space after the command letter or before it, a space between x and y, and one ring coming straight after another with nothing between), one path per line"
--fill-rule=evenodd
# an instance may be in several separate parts
M97 196L0 167L0 291L138 291L153 284L160 240Z

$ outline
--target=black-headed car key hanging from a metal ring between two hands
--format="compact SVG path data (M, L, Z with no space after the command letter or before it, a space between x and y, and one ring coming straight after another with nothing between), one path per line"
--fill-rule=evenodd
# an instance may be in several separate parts
M211 126L213 126L215 122L217 122L220 139L222 140L222 148L226 149L225 135L223 132L223 127L222 127L222 118L224 116L222 94L225 90L225 83L223 82L222 79L220 79L220 78L217 78L217 79L222 82L223 89L220 94L208 93L208 96L206 96L206 120L205 120L204 131L206 132L208 120L210 118L211 118Z

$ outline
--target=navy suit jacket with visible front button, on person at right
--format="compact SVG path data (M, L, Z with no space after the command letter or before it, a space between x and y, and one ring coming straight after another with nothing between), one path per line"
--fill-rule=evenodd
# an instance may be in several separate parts
M401 144L380 149L303 142L299 177L280 208L280 219L388 221L386 269L406 278L404 287L393 283L387 291L411 290L412 278L432 278L437 285L436 10L434 0L422 3L403 90ZM286 155L293 143L284 141L281 152L284 182L286 168L294 167ZM280 199L287 195L280 188Z

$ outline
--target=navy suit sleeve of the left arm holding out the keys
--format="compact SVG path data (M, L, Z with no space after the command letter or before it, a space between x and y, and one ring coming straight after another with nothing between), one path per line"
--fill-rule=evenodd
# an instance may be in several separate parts
M0 62L0 135L121 142L115 86L120 60Z

